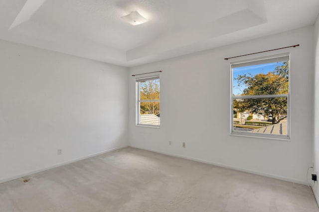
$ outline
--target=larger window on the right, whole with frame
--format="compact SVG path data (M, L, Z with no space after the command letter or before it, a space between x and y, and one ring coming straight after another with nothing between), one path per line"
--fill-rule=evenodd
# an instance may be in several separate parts
M289 139L289 54L231 65L231 134Z

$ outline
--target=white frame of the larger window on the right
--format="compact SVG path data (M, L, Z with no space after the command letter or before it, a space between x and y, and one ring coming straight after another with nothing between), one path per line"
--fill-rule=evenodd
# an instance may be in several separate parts
M289 68L289 82L288 82L288 94L280 95L253 95L253 96L233 96L233 66L238 64L252 63L256 64L267 63L267 59L274 59L279 57L289 58L288 68ZM290 63L290 53L276 54L271 56L259 57L248 60L235 61L230 63L230 134L235 136L248 136L248 137L259 137L259 138L269 138L269 139L280 139L280 140L290 140L290 73L291 73L291 63ZM234 115L233 115L233 100L234 99L260 99L260 98L278 98L286 97L287 98L287 135L276 135L276 134L263 134L263 133L251 133L251 132L241 132L234 131Z

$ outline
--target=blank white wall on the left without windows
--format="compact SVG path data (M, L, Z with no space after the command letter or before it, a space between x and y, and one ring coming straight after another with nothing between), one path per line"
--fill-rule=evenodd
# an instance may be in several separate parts
M0 182L127 146L127 105L128 68L0 40Z

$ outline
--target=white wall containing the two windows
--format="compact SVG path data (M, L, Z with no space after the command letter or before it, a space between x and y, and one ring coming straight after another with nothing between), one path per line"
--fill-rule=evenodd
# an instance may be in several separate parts
M135 78L129 79L130 146L305 184L312 164L313 40L309 26L131 68L130 74L163 72L160 129L135 126ZM254 55L291 52L291 141L230 136L234 60L223 58L293 44L301 46Z

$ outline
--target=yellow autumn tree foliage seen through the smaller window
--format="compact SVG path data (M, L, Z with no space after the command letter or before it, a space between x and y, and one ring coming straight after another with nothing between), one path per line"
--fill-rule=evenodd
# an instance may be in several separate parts
M160 99L160 80L146 80L140 82L141 100L159 100ZM160 102L141 102L141 114L160 115Z

